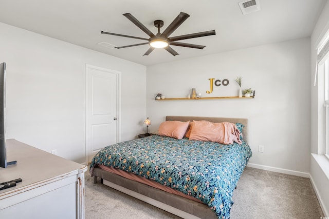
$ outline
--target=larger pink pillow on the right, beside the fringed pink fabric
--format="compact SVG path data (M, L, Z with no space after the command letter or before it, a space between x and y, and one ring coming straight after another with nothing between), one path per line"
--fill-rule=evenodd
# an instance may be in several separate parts
M212 123L209 121L193 121L193 126L190 134L191 140L204 142L223 142L224 126L222 123Z

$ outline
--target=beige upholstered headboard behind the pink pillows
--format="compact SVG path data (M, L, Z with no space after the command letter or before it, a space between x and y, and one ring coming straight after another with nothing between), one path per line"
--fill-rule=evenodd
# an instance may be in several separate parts
M248 118L224 118L224 117L202 117L202 116L175 116L175 115L167 115L166 121L200 121L206 120L212 123L241 123L245 127L242 129L243 140L248 143Z

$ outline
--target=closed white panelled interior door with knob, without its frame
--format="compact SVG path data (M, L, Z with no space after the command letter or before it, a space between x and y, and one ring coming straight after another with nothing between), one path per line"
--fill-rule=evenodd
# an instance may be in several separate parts
M86 65L86 159L117 143L117 71Z

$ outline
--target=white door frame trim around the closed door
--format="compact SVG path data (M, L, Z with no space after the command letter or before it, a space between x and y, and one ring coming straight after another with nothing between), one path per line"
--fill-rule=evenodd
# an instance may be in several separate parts
M85 142L85 165L88 165L88 152L87 152L87 102L88 102L88 85L87 85L87 73L88 69L95 69L95 70L101 70L109 73L114 73L117 75L117 96L116 96L116 104L117 104L117 142L121 142L121 72L113 69L103 68L99 66L89 65L85 64L85 115L84 115L84 142Z

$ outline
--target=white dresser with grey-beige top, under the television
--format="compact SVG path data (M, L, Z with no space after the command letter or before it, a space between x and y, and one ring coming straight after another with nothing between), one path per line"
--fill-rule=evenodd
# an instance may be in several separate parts
M0 190L0 218L84 218L84 172L87 166L16 140L7 140L7 162L0 183L22 178Z

